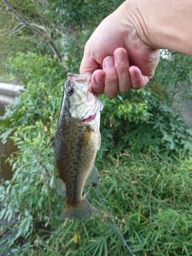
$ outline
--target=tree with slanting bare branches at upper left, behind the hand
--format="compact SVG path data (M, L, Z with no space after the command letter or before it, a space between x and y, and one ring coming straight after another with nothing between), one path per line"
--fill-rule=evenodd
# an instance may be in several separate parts
M85 0L70 2L2 0L2 2L4 3L2 20L6 18L7 21L2 24L3 29L0 34L2 42L7 42L11 38L12 41L15 40L23 45L24 38L24 44L29 43L28 46L24 46L25 50L51 54L62 66L66 66L69 53L70 62L73 63L72 58L82 55L83 42L88 38L93 27L122 3L122 1L111 1L106 7L104 1ZM98 9L101 9L101 12L98 13ZM6 15L7 12L11 17ZM35 46L38 47L35 49ZM6 49L4 47L3 52L7 55Z

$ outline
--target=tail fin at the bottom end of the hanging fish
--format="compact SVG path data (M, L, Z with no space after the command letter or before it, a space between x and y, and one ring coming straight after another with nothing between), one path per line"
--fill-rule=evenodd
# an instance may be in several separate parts
M78 218L81 221L86 221L91 217L92 210L85 198L82 198L82 203L78 206L67 206L65 205L62 210L62 214L59 217L59 220L65 218Z

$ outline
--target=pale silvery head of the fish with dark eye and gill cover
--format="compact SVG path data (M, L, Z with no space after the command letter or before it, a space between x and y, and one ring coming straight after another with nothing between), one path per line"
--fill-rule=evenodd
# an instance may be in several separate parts
M103 103L91 92L91 76L68 74L65 84L65 100L71 118L80 122L91 122L100 114Z

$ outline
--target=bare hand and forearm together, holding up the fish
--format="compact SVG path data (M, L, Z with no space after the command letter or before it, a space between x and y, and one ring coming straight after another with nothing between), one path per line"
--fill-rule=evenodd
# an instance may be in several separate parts
M92 90L113 98L154 76L160 49L192 55L191 0L126 0L86 42L81 74Z

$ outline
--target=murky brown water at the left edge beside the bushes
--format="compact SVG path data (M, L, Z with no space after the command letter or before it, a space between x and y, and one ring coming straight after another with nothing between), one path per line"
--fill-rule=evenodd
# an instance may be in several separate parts
M3 96L4 95L0 95L0 98L3 99ZM7 96L5 97L7 98ZM14 98L10 98L10 101L13 99ZM5 106L6 106L6 103L0 102L0 116L4 114ZM2 142L0 142L0 182L2 180L10 180L10 178L12 178L13 176L11 166L8 162L6 162L6 159L15 150L16 150L16 146L14 146L13 142L10 139L7 140L6 144L2 144Z

